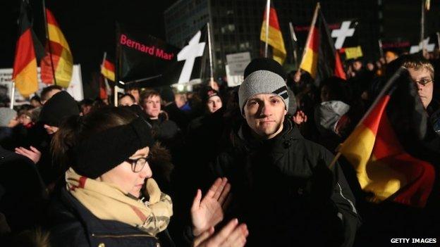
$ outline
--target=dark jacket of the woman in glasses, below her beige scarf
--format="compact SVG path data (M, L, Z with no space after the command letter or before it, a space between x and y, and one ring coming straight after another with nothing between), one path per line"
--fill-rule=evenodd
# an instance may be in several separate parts
M65 188L51 203L48 212L52 247L160 246L157 238L129 224L98 219Z

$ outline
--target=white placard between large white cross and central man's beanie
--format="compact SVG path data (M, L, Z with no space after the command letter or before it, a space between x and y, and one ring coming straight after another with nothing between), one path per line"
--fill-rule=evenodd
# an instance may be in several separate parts
M246 66L250 63L250 53L240 52L226 55L227 65L226 77L228 78L228 87L236 87L243 82L243 73Z

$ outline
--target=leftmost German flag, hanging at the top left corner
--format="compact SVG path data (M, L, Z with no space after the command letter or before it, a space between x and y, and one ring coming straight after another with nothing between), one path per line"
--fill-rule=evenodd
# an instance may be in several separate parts
M19 30L16 45L16 58L13 63L12 79L20 94L25 97L38 90L37 58L35 45L39 42L32 31L32 24L27 16L29 6L27 1L22 1L20 9Z

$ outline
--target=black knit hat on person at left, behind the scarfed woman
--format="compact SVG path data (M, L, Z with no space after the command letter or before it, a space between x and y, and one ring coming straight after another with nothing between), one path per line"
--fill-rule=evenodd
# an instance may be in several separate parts
M61 121L71 115L80 115L78 104L67 91L60 91L44 103L39 120L46 125L59 127Z

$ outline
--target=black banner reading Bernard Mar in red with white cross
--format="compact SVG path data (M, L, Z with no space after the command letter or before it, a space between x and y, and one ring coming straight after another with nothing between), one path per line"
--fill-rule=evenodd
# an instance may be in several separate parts
M206 25L182 49L121 24L116 35L116 80L120 87L197 83L207 72Z

